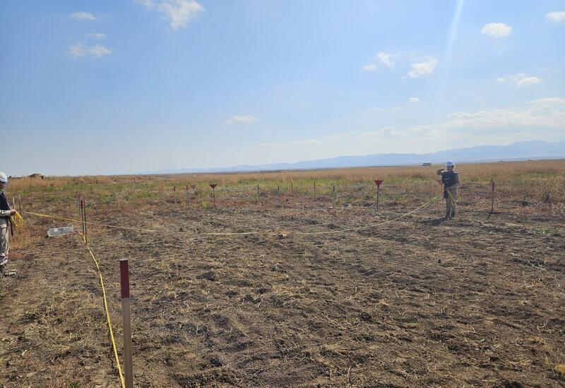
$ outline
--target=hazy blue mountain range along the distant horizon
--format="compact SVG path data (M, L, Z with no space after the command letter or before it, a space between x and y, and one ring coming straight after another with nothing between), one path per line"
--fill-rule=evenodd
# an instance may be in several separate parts
M189 174L242 171L339 169L344 167L405 166L422 163L497 162L500 160L564 159L565 141L549 143L540 140L518 142L511 145L480 145L454 148L430 154L371 154L309 160L295 163L270 163L257 166L241 165L216 169L165 169L144 174Z

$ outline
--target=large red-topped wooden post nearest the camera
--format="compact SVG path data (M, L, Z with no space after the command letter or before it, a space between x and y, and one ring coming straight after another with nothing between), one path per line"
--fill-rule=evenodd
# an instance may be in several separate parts
M124 320L124 380L126 388L133 388L133 355L131 351L131 305L129 301L129 265L127 259L119 260L121 288L121 316Z

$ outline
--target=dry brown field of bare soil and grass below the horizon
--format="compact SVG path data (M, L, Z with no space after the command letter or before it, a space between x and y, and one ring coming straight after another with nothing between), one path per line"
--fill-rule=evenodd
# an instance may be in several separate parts
M120 357L130 260L136 387L563 387L565 161L457 169L446 222L436 166L13 179L0 386L119 386L83 241L26 214L81 193Z

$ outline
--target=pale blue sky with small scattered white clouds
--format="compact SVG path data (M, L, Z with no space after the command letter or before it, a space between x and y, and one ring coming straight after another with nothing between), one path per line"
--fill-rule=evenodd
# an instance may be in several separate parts
M565 1L0 3L0 170L565 140Z

